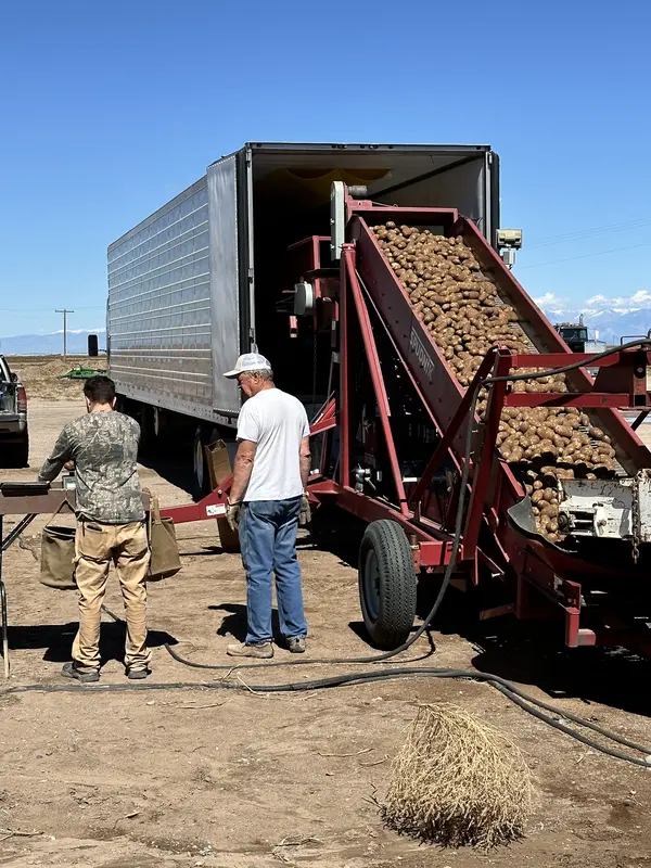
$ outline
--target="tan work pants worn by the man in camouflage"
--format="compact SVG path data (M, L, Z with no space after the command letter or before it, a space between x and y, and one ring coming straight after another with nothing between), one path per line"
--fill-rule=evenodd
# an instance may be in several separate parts
M115 564L127 618L125 666L145 668L146 573L150 552L143 522L102 524L80 521L75 535L75 579L79 590L79 630L73 660L80 669L100 667L100 621L111 561Z

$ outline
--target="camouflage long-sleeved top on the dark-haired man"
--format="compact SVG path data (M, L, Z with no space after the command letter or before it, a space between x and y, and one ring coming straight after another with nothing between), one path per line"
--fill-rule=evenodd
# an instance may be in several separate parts
M75 462L77 514L106 524L142 521L142 488L137 457L140 425L115 410L75 419L61 432L39 480L54 480Z

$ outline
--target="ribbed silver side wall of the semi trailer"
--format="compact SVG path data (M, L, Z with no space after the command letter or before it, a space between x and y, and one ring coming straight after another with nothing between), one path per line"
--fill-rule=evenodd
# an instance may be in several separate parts
M119 394L228 423L237 387L216 368L239 350L235 176L219 165L108 247L107 331Z

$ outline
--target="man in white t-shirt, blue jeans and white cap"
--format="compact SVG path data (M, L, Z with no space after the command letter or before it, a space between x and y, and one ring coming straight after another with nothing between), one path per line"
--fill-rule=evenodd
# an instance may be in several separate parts
M271 582L280 630L292 653L305 651L307 623L303 611L296 532L309 511L305 487L309 475L309 423L301 401L273 385L268 359L257 353L240 356L232 371L247 400L238 419L238 454L227 503L227 519L240 529L246 570L247 633L227 654L272 658Z

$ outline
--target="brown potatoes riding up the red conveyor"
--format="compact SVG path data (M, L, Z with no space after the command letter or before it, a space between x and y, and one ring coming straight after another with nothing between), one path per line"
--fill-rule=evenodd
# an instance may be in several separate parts
M468 386L486 353L506 346L535 353L511 305L502 304L490 271L483 270L461 235L445 238L429 229L373 227L378 244L407 291L413 309L432 333L462 386ZM531 369L518 373L534 373ZM514 392L567 392L564 374L513 383ZM477 411L486 409L482 390ZM532 497L536 525L551 541L559 533L558 481L611 476L615 450L576 408L505 408L497 437Z

